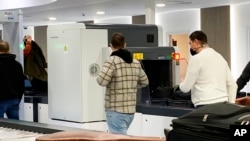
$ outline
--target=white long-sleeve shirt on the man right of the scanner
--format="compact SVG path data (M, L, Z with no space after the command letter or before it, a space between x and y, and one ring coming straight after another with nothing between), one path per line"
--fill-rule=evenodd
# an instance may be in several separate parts
M191 90L195 106L216 102L235 102L237 84L226 60L212 48L204 48L194 55L188 64L180 90Z

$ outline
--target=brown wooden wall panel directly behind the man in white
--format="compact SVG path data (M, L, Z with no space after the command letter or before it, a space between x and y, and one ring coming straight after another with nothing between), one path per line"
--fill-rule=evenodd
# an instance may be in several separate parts
M201 9L201 30L208 36L208 44L231 64L230 6Z

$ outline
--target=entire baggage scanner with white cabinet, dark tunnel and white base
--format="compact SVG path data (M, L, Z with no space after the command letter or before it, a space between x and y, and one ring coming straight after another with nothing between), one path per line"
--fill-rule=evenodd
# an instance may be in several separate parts
M39 116L46 116L42 121L47 124L107 131L105 87L97 84L96 76L111 53L107 47L110 37L113 32L122 32L126 34L127 49L134 58L141 61L150 83L149 87L138 90L137 113L128 133L164 137L163 128L168 128L173 118L189 111L166 105L164 99L154 96L159 85L171 87L180 83L180 54L177 47L159 47L161 28L153 25L145 25L144 28L138 26L112 25L104 28L83 23L49 25L48 97L47 101L27 101L36 102L38 107L38 111L31 109L38 113L38 117L32 118L33 121L41 122ZM130 28L133 30L128 32ZM128 37L131 37L130 41Z

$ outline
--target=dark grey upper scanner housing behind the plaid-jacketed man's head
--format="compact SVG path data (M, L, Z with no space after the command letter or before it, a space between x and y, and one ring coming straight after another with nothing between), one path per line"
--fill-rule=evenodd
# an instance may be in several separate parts
M126 37L127 47L162 46L162 28L150 24L85 24L86 29L106 29L108 41L114 32L121 32ZM109 45L107 45L109 46Z

